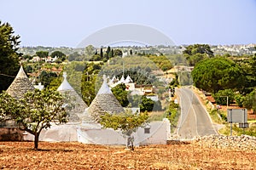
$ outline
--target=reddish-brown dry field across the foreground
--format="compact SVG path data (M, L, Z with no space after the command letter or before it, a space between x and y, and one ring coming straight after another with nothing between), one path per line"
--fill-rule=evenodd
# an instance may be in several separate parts
M256 150L193 143L137 147L0 142L0 169L255 169Z

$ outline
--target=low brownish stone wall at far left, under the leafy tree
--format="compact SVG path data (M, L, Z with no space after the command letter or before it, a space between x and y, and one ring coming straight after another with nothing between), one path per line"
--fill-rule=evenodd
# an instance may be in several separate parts
M19 127L0 127L0 141L22 141L23 131Z

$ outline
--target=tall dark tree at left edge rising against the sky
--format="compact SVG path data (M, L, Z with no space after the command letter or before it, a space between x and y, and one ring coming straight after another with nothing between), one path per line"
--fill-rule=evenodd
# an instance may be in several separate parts
M9 23L2 23L0 20L0 92L9 88L20 68L21 54L17 52L20 36L15 36L14 33Z

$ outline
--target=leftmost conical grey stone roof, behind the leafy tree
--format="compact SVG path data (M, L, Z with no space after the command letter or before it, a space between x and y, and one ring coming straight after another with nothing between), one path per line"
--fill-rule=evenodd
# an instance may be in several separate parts
M34 89L32 82L30 82L28 77L26 77L23 67L20 66L20 71L6 92L16 99L21 99L27 91L33 91Z

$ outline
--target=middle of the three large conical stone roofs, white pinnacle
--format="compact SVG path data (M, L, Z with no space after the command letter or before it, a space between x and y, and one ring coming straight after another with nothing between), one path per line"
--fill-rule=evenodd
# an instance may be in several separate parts
M64 97L67 97L67 105L72 109L67 111L69 115L69 122L80 122L84 119L84 110L88 106L84 103L84 100L79 96L79 94L72 88L72 86L67 82L67 73L63 72L64 80L61 82L60 87L57 91L61 92Z

